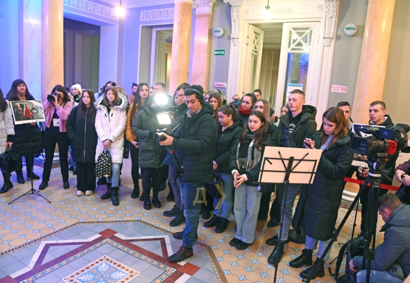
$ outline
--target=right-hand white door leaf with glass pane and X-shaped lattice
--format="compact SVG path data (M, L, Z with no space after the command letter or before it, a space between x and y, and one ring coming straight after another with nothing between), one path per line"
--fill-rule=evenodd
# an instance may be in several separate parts
M319 22L284 23L280 49L275 114L287 103L289 92L301 89L306 104L311 104L318 89L320 62L316 55L319 43ZM316 77L316 80L315 80Z

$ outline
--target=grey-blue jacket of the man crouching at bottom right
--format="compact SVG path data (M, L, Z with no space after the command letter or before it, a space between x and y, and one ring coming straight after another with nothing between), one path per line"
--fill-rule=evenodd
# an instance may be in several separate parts
M376 248L371 269L386 271L404 279L410 274L410 206L400 204L380 229L383 244ZM355 256L355 268L362 268L362 256Z

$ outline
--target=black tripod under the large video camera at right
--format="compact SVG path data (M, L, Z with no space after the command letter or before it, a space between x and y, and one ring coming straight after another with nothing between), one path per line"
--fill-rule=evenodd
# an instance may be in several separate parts
M365 212L366 213L365 226L364 226L364 231L362 231L363 239L364 239L364 252L363 252L363 261L362 261L361 270L366 269L366 283L370 281L371 262L375 258L376 224L377 224L377 213L378 213L377 208L378 208L380 183L381 183L380 177L381 177L382 169L385 166L385 163L386 163L385 160L380 160L380 159L369 161L370 171L368 173L368 176L364 180L363 185L360 187L359 193L356 195L355 199L353 200L352 205L347 210L346 215L343 217L339 227L334 231L332 239L329 245L327 245L326 249L324 250L322 257L318 258L317 263L315 262L315 265L312 267L313 270L312 270L311 276L309 276L307 279L303 280L302 282L309 283L312 280L312 275L315 273L318 266L322 264L323 258L327 254L327 252L329 252L329 250L332 248L332 244L337 240L337 236L342 230L348 217L350 217L350 214L355 209L355 206L358 203L360 196L365 191L365 188L367 185L370 185L370 190L368 192L369 205L368 205L368 210ZM377 169L373 169L373 164L376 165L375 167ZM362 213L364 212L362 211ZM354 235L352 234L352 238L353 236ZM366 266L366 262L367 262L367 266ZM348 264L349 263L346 262L346 266Z

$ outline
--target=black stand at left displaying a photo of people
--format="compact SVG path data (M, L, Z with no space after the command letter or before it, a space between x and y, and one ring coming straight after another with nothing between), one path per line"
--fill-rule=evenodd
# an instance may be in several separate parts
M16 109L16 105L20 105L20 104L21 105L31 106L31 108L30 108L31 110L33 110L35 108L37 110L36 117L30 117L28 119L26 117L25 119L23 119L22 116L20 116L20 115L17 116L18 109L17 109L17 111L15 111L15 109ZM11 101L10 105L13 109L13 111L12 111L13 115L12 116L13 116L13 120L14 120L14 125L26 124L26 126L27 126L27 132L29 134L29 153L30 153L30 156L31 156L31 137L30 137L30 125L29 124L30 123L37 123L37 122L45 122L46 121L46 119L44 117L44 110L43 110L42 102L40 100L27 100L27 101L17 100L17 101ZM26 160L26 167L27 167L27 160ZM19 199L20 197L23 197L23 196L29 195L29 194L34 194L34 195L38 195L40 197L43 197L45 200L47 200L51 204L50 200L48 200L44 196L40 195L40 193L37 190L34 189L34 186L33 186L33 167L34 167L34 164L30 168L30 176L31 176L31 189L30 189L30 191L28 191L28 192L20 195L19 197L13 199L12 201L10 201L10 203L8 203L8 205L14 203L14 201Z

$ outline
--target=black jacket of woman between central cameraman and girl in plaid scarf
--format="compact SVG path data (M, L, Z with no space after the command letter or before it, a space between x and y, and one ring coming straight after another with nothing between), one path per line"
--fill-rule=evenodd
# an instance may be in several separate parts
M216 128L217 141L214 150L214 160L218 165L217 170L220 173L231 173L231 170L229 169L231 149L242 133L242 124L234 122L231 127L226 128L223 132L221 125L217 125Z

